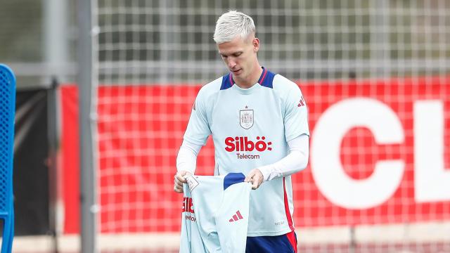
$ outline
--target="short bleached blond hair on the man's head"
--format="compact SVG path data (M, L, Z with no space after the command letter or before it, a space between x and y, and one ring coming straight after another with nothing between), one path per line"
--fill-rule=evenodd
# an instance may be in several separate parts
M246 39L255 31L255 22L249 15L238 11L229 11L217 19L213 38L217 44L220 44L231 41L237 36Z

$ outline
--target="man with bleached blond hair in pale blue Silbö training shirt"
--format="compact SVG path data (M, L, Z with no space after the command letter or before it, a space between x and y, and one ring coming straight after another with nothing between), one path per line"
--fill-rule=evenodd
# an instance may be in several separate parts
M259 65L259 39L248 15L224 13L214 32L230 70L200 89L176 158L174 191L195 171L207 137L214 175L242 172L252 183L246 252L297 252L290 175L307 167L307 107L297 84Z

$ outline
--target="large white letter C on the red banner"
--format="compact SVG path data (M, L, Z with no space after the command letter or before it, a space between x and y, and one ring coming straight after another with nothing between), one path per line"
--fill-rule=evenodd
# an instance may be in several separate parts
M366 209L394 194L404 174L404 162L376 162L368 179L352 179L340 162L340 145L345 134L356 126L371 130L378 144L404 141L399 118L384 103L372 98L342 100L323 112L314 127L311 169L317 187L330 202L347 209ZM354 152L358 152L357 147Z

